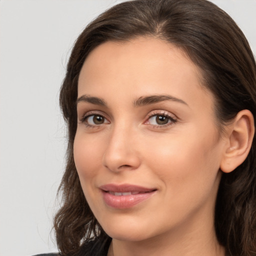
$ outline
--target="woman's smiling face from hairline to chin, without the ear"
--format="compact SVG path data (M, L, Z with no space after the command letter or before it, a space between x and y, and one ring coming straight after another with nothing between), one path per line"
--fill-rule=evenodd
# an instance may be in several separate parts
M137 38L90 52L78 79L74 161L109 236L213 228L223 150L213 104L199 69L170 43Z

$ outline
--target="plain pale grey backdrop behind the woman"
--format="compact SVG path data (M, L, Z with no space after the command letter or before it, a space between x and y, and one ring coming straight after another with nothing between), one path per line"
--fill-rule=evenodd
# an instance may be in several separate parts
M58 92L75 38L122 0L0 0L0 256L56 251L52 215L64 169ZM256 52L256 0L212 0Z

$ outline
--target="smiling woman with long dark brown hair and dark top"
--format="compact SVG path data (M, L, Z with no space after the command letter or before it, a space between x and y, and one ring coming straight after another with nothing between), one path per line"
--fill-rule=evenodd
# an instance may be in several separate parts
M206 0L134 0L77 38L62 255L255 255L256 65Z

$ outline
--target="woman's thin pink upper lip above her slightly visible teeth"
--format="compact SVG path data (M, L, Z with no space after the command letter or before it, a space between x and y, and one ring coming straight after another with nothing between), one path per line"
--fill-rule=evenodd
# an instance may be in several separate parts
M104 191L112 191L112 192L150 192L156 190L156 188L148 188L139 185L133 184L105 184L99 186L100 189Z

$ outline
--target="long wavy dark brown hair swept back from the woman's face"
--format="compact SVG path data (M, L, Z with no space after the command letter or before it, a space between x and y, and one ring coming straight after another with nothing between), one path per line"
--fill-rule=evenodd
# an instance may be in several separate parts
M253 54L233 19L215 4L207 0L132 0L106 10L76 39L60 89L68 145L66 168L58 190L63 203L55 215L54 228L62 255L102 255L111 239L87 204L73 159L79 72L88 53L99 44L141 36L176 45L199 67L203 86L214 95L220 127L242 109L250 110L256 120ZM216 236L232 256L256 254L255 143L254 137L241 165L222 174L216 198Z

